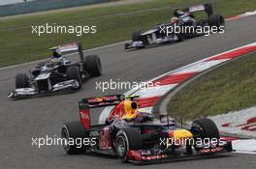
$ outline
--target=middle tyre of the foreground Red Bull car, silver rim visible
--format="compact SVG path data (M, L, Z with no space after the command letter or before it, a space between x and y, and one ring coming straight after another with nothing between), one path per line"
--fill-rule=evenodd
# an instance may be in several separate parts
M141 132L135 127L120 129L115 137L115 152L122 162L128 161L128 151L138 151L143 147Z

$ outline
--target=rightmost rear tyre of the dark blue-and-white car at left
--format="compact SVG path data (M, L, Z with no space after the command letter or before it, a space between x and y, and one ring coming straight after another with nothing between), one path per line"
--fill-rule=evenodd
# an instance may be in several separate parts
M98 55L88 55L85 57L85 69L90 76L95 77L102 74L101 60Z

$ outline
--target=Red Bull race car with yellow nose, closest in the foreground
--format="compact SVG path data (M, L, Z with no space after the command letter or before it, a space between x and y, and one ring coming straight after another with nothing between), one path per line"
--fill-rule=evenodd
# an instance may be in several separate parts
M114 155L123 162L143 164L233 151L232 143L220 138L211 120L196 120L186 129L168 116L156 119L140 112L136 98L112 95L81 99L80 121L66 123L61 129L66 153ZM114 109L106 124L91 125L90 109L112 105Z

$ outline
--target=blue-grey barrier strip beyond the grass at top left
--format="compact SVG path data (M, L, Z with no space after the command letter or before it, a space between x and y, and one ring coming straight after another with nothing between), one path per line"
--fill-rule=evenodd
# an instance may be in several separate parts
M42 12L54 9L62 9L69 7L78 7L80 5L97 4L110 2L111 0L45 0L30 1L26 3L17 3L11 5L0 6L0 16L28 14Z

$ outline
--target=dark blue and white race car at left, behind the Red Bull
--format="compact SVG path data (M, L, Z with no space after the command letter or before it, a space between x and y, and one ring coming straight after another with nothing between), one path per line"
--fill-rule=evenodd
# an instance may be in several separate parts
M35 69L16 74L16 90L8 95L11 99L25 99L57 92L74 92L82 81L101 75L101 61L97 55L83 56L80 42L50 48L52 56L39 63ZM65 54L79 52L80 61L71 62Z

